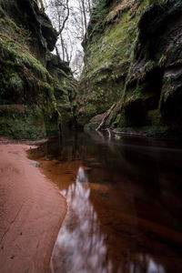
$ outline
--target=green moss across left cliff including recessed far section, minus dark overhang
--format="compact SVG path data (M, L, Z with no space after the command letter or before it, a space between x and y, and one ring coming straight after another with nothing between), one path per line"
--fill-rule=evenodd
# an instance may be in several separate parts
M37 49L38 55L41 46L26 28L28 22L15 24L4 2L0 0L0 108L5 106L0 109L0 135L42 137L70 124L76 83L61 69L56 80L49 74L32 52Z

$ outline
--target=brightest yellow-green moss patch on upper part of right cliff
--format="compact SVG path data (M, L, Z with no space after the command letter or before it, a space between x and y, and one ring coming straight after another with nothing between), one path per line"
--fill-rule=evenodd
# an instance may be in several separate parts
M137 36L137 22L147 6L147 0L143 1L133 19L130 18L130 10L128 10L118 24L106 27L101 37L99 39L96 37L96 41L93 38L86 48L87 67L85 71L87 70L88 76L112 64L123 65L125 69L126 66L129 67ZM91 72L88 66L92 67Z

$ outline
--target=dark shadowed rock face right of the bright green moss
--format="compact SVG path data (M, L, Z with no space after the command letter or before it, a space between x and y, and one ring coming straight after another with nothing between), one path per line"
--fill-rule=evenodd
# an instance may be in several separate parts
M136 94L144 114L141 126L167 126L173 130L181 120L181 1L153 1L138 23L134 61L126 82L125 102ZM150 19L152 18L152 20ZM131 111L135 110L135 100ZM148 119L149 113L161 118ZM137 116L137 110L136 110ZM136 116L132 118L134 125ZM154 117L154 116L153 116ZM140 118L142 120L142 117Z

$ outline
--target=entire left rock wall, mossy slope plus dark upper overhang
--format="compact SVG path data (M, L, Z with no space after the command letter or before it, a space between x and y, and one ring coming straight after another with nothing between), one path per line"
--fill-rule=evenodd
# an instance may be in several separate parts
M62 74L51 70L61 63L50 57L56 39L56 30L35 0L0 0L1 136L38 138L73 122L73 95L67 99L62 89L74 94L74 78L67 64Z

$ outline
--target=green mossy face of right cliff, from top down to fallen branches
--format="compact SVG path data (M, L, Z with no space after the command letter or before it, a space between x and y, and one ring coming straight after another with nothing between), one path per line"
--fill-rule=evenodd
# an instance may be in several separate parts
M133 4L136 2L138 7L133 11ZM120 10L118 7L111 9L106 16L102 35L99 31L97 35L95 25L95 34L91 35L86 47L86 62L81 80L86 84L80 88L77 99L81 101L81 107L85 105L86 116L91 115L90 118L105 112L112 103L125 94L124 83L131 67L138 37L137 24L148 8L148 1L123 1L118 6ZM132 17L131 11L136 13L135 16ZM121 18L115 23L112 20L117 16L117 12ZM146 66L144 71L147 69L149 66Z

